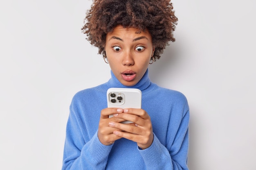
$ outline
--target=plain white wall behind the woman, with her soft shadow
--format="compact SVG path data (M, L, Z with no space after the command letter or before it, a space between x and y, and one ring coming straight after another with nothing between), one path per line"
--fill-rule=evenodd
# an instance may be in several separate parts
M90 4L0 2L1 169L61 169L73 95L110 78L80 30ZM173 4L176 42L150 65L150 78L189 100L189 168L255 170L256 2Z

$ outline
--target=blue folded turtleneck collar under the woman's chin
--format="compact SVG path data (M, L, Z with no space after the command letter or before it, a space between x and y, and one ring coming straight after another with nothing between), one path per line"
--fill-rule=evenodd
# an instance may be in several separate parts
M111 88L111 87L115 87L115 88L136 88L136 89L140 89L142 93L149 91L150 89L155 87L154 83L150 82L149 76L148 76L148 69L146 70L144 76L140 79L140 81L133 85L133 86L125 86L123 85L114 75L114 73L111 71L111 78L110 80L105 83L105 85L107 86L107 89Z

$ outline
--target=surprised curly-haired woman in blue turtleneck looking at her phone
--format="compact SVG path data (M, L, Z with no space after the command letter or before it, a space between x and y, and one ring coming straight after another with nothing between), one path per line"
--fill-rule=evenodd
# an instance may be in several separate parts
M175 41L176 23L170 0L93 1L82 30L109 63L111 78L75 94L63 170L188 169L187 100L148 77L148 64ZM107 108L111 87L140 89L141 109Z

